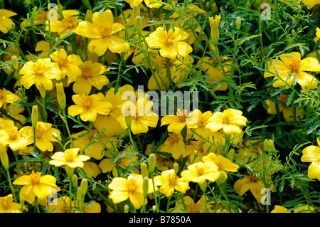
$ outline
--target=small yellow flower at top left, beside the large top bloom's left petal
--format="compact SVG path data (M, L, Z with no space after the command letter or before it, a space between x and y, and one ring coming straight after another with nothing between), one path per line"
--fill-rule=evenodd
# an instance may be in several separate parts
M57 32L59 38L65 37L68 33L74 33L78 24L82 21L78 18L79 12L73 9L61 11L63 19L51 19L50 27L49 22L46 21L46 31Z

